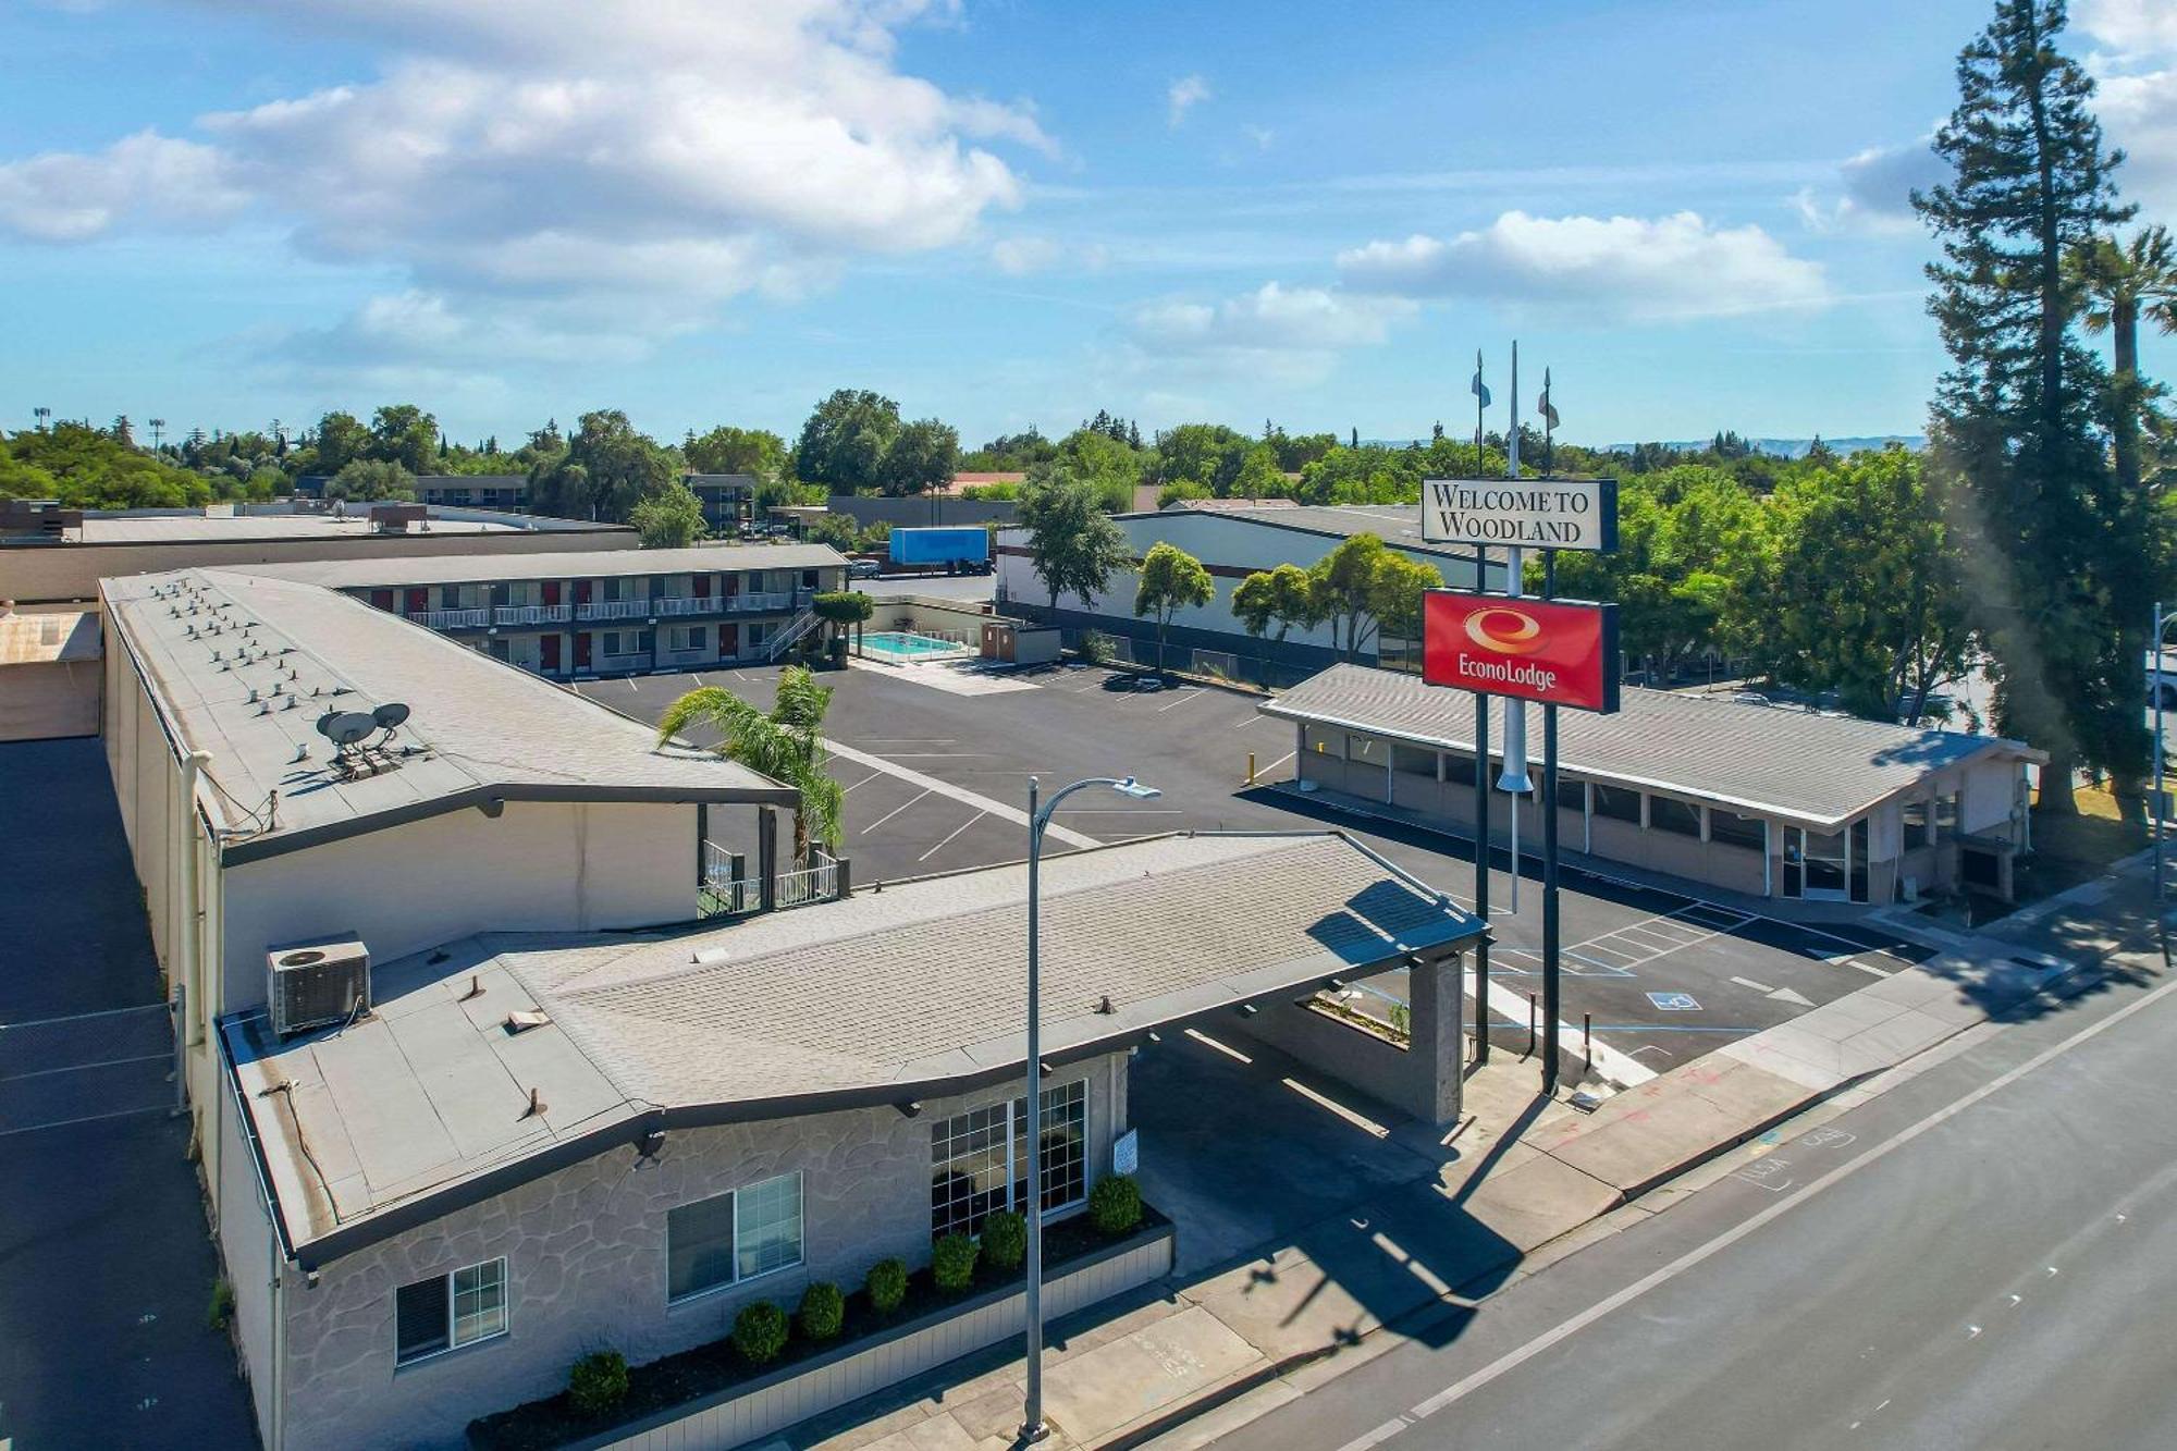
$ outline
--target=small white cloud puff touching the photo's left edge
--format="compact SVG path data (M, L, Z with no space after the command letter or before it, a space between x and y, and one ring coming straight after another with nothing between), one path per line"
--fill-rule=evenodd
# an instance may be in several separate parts
M216 227L248 203L211 146L139 131L96 157L0 163L0 227L33 242L83 242L124 222Z

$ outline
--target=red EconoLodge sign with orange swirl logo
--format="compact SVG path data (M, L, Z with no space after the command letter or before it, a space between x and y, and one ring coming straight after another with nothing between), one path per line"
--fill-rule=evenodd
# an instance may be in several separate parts
M1618 606L1422 595L1422 680L1574 710L1618 710Z

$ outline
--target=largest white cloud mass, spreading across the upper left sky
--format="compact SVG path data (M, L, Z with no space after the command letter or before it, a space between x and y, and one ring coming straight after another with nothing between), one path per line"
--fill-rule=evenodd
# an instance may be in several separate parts
M255 205L311 257L403 268L392 303L416 327L414 298L686 316L790 294L858 255L971 242L1021 200L991 146L1054 150L1025 105L897 70L897 31L930 9L290 0L283 17L379 46L383 70L207 115L192 139L4 163L0 231L83 242Z

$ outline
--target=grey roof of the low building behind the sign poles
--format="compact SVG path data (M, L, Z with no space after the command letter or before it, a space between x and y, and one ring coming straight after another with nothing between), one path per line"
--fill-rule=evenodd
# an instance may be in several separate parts
M1835 830L1929 773L1975 756L2046 760L2031 745L2003 736L1742 706L1676 691L1626 688L1620 704L1618 715L1559 712L1561 769L1820 830ZM1260 710L1474 754L1474 695L1424 684L1419 675L1332 664L1263 702ZM1541 730L1530 726L1526 743L1530 760L1539 763Z

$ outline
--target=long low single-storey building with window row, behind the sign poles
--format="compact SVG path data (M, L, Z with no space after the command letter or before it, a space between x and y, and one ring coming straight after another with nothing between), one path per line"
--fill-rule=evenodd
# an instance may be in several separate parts
M1419 826L1474 830L1474 695L1337 664L1263 715L1293 723L1295 780ZM1502 706L1491 706L1502 745ZM1528 706L1522 852L1541 850L1541 723ZM2012 895L2031 850L2018 741L1911 730L1676 691L1626 688L1615 715L1559 710L1559 843L1596 865L1796 904ZM1496 780L1502 760L1491 758ZM1491 837L1511 841L1509 800Z

